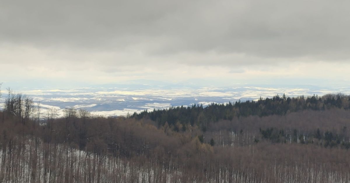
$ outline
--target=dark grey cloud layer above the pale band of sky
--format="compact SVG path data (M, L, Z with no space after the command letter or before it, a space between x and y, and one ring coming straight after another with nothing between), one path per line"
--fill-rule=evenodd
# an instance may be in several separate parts
M342 0L2 0L0 41L83 54L136 50L173 60L208 52L224 57L178 61L203 65L347 60L349 5Z

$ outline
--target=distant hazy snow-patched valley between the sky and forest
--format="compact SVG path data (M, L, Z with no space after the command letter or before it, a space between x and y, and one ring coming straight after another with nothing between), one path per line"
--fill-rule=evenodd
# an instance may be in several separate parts
M91 87L78 87L75 89L64 88L18 88L14 92L20 92L33 97L43 109L55 108L59 115L63 114L65 107L83 108L94 115L126 116L128 113L144 110L167 109L171 106L207 106L211 103L226 104L228 102L257 100L260 97L280 96L322 96L327 93L349 93L349 87L318 87L310 85L241 85L231 87L198 87L184 85L102 85ZM0 107L6 98L6 89L2 88Z

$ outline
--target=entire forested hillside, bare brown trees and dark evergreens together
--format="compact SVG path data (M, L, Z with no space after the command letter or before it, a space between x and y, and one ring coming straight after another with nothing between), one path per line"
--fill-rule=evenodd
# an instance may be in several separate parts
M275 96L127 117L8 89L0 182L350 182L350 97Z

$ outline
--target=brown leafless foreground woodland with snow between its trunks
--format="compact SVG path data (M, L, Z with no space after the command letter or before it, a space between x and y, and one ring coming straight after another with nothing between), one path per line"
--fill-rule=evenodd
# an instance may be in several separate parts
M0 124L1 182L350 181L345 149L256 143L246 130L224 146L215 137L210 145L197 126L175 132L145 119L72 115L35 125L14 118L5 114Z

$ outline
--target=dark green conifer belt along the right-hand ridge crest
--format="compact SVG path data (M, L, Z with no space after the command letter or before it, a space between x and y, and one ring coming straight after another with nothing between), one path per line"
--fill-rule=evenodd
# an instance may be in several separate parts
M322 97L314 95L290 98L286 97L285 94L282 97L277 94L273 98L262 99L260 97L257 101L247 100L244 102L239 100L234 104L231 102L227 104L212 103L206 107L197 104L188 107L177 106L164 110L143 111L134 113L131 117L136 119L149 118L156 121L159 126L163 126L165 123L171 126L179 126L176 125L177 123L197 125L205 131L210 122L232 120L235 117L285 115L302 110L326 110L330 108L348 110L350 108L350 96L338 93L326 94Z

